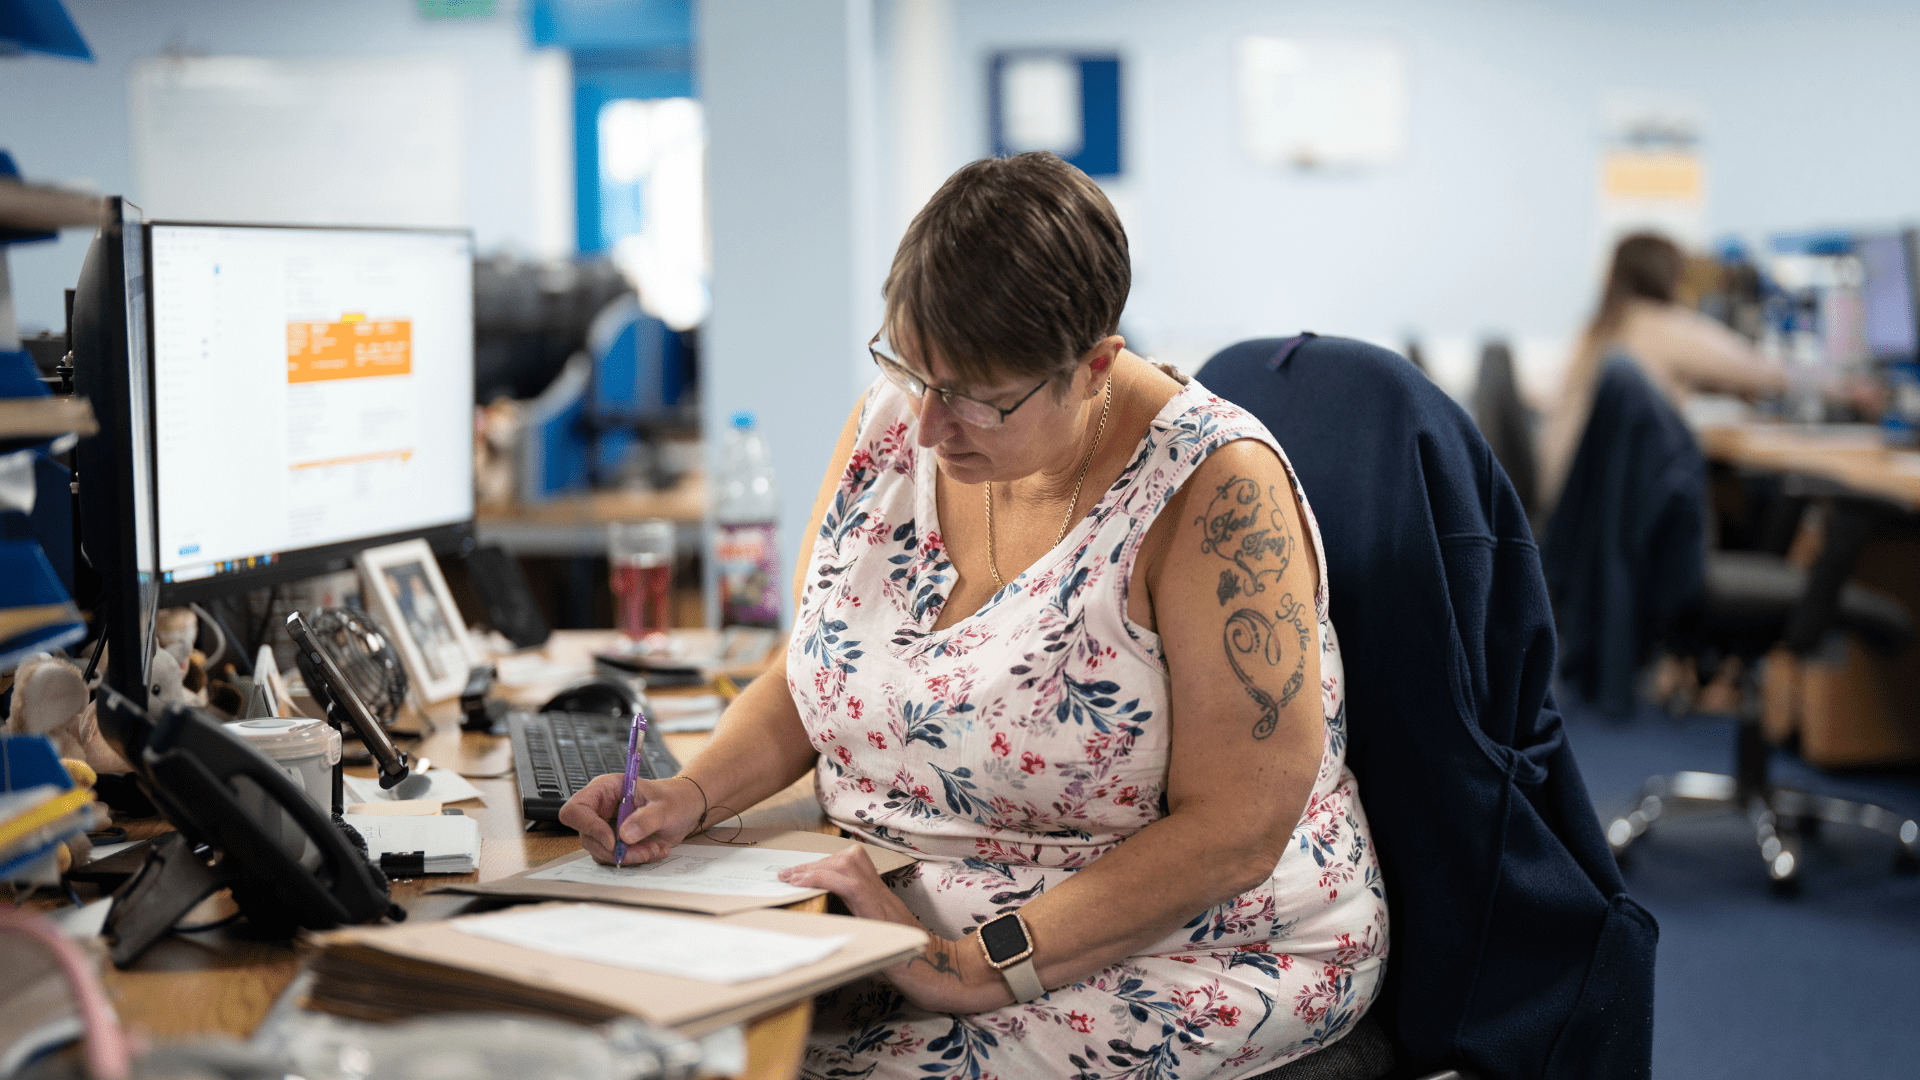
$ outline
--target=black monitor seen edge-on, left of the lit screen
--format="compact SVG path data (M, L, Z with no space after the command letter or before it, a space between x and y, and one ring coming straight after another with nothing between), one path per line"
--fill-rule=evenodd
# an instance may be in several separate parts
M115 196L73 292L73 384L100 421L75 448L81 553L100 592L77 600L106 638L108 684L134 701L146 701L157 601L146 313L140 208Z

